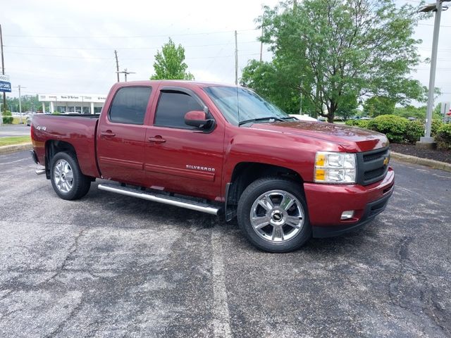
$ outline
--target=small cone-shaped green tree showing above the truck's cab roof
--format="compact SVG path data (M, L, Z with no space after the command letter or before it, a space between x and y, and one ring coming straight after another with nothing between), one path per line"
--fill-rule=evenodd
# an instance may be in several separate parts
M185 49L181 44L175 46L171 38L163 44L160 51L156 51L154 70L150 80L194 80L194 76L187 72L185 63Z

